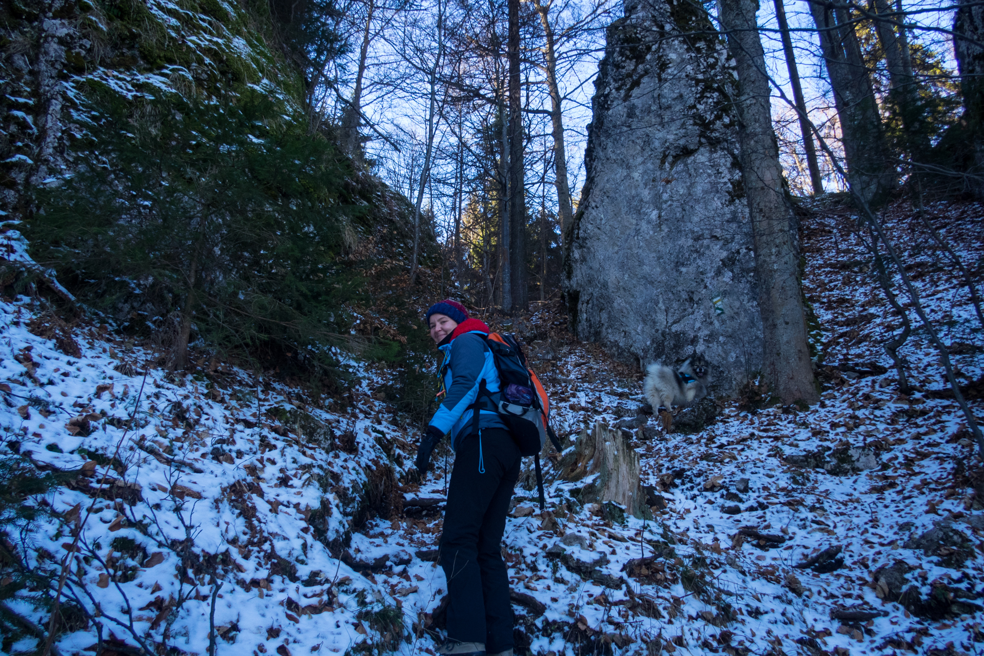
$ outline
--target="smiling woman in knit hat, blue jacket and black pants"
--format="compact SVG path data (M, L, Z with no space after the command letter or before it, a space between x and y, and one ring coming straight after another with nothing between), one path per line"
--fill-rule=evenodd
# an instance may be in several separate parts
M421 477L445 435L451 436L455 450L439 558L448 577L448 640L438 651L513 656L513 609L501 543L520 476L520 449L488 397L479 405L477 430L468 407L482 381L498 396L499 375L481 336L490 330L450 299L427 310L427 325L444 351L444 363L439 371L441 404L417 451Z

